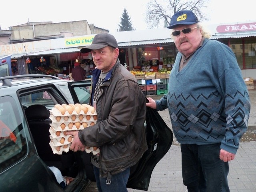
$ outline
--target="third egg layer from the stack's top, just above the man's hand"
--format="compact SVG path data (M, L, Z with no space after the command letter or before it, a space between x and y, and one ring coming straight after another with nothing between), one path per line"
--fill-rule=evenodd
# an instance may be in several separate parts
M54 131L74 131L82 130L94 124L96 124L96 121L52 123L50 126L54 129Z

